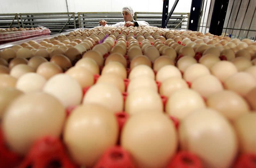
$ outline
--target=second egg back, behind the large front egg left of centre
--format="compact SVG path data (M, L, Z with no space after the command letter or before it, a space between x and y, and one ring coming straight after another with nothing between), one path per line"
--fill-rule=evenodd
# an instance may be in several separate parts
M110 84L95 84L86 92L83 104L99 104L111 110L120 112L123 110L124 101L121 92Z

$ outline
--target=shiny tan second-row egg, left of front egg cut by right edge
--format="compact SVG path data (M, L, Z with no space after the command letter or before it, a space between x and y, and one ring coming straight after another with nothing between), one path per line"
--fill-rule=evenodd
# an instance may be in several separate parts
M249 112L246 101L234 91L220 91L207 98L207 106L215 109L230 121L235 121L241 114Z

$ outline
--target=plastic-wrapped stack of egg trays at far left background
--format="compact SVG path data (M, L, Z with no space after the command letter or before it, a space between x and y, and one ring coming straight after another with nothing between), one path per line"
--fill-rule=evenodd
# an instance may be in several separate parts
M0 30L0 44L24 40L36 36L50 35L50 33L50 29L43 26L29 28L28 30L12 28L10 31L8 31L8 29L2 29Z

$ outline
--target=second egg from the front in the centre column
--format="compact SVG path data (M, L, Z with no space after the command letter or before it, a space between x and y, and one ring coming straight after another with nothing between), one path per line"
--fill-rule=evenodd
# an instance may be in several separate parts
M138 88L129 92L124 107L130 115L145 111L161 113L164 110L161 97L151 88Z

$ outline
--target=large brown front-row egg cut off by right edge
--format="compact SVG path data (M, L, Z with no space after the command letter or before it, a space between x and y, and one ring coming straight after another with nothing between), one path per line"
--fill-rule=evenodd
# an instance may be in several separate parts
M255 119L256 113L240 115L234 122L234 128L238 136L239 147L243 153L256 153L255 144Z

